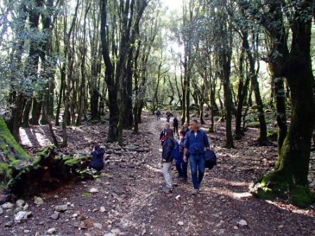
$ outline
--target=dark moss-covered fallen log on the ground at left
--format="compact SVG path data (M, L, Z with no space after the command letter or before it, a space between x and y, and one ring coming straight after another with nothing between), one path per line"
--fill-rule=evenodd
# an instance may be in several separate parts
M14 168L7 189L18 196L58 189L78 177L91 161L91 156L58 156L54 145L46 147L32 163Z

